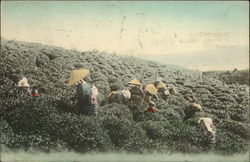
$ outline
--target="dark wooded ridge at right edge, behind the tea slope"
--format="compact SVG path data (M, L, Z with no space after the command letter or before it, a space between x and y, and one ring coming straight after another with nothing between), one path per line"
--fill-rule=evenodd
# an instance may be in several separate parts
M249 69L233 71L207 71L203 72L208 77L213 77L226 84L245 84L249 86Z

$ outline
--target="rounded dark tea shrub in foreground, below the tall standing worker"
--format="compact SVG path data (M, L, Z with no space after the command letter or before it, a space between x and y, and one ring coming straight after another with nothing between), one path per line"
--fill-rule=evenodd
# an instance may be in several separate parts
M105 151L112 148L111 140L97 117L63 114L55 119L56 138L66 141L75 151Z

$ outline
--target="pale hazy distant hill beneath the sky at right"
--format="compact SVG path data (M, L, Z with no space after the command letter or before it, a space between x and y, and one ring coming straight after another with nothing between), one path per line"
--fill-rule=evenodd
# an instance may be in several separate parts
M150 55L145 56L145 58L201 71L231 70L232 67L244 69L248 68L247 65L249 64L249 48L222 46L216 49L172 55Z

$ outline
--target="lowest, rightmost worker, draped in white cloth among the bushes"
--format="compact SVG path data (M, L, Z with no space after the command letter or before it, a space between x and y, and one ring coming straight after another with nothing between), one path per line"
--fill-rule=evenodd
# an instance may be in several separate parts
M200 124L203 131L207 131L211 136L211 143L215 143L216 129L213 125L211 118L202 117L199 119L198 124Z

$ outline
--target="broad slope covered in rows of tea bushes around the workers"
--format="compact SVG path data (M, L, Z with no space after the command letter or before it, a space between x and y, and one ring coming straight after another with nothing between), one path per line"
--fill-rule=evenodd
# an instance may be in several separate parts
M247 152L249 87L227 85L217 79L98 51L79 52L35 43L1 40L0 120L2 148L25 150L207 152L212 149L197 127L199 116L212 117L217 128L217 153ZM87 81L100 91L99 114L79 115L70 102L75 87L66 85L70 71L90 69ZM32 98L17 88L26 76L42 97ZM106 104L105 95L122 89L132 78L143 83L163 78L178 94L159 99L160 112L134 111L126 105ZM203 112L183 122L188 102L184 91L198 98Z

